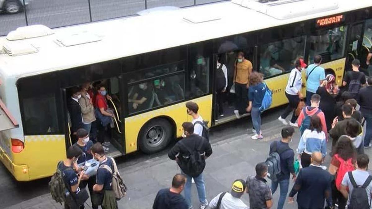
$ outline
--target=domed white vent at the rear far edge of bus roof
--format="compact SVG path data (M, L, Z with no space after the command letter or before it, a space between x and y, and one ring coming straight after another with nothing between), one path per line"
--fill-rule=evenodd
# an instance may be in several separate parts
M36 38L54 34L54 31L45 25L30 25L19 27L15 31L10 31L6 36L9 41Z

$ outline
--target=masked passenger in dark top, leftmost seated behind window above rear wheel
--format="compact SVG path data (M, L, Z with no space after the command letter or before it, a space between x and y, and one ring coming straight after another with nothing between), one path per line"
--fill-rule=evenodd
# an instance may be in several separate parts
M132 99L128 99L128 102L132 103L129 105L129 112L134 113L141 110L147 110L150 108L150 101L153 97L153 90L148 87L147 83L138 84L139 89L134 93Z

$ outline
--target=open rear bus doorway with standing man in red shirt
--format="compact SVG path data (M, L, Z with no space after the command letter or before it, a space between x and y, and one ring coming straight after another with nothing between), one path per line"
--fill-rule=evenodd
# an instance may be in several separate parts
M77 129L84 128L90 140L102 143L108 155L125 153L121 84L119 77L112 77L64 89L70 144L77 141Z

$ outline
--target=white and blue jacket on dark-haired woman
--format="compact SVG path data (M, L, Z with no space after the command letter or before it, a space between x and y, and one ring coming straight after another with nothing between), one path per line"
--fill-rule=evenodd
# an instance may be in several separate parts
M306 129L297 148L297 153L302 154L303 152L309 155L313 152L321 152L324 158L327 155L327 140L324 132L319 133L316 130Z

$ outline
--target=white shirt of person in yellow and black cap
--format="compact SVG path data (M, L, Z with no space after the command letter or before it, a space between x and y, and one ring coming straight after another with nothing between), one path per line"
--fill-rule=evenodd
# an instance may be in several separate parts
M221 194L222 192L211 200L207 207L208 209L217 209L218 199ZM248 209L248 206L240 198L233 197L227 192L222 197L220 209Z

